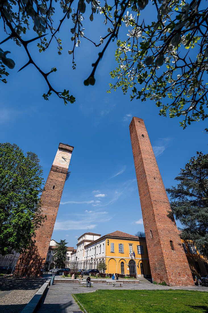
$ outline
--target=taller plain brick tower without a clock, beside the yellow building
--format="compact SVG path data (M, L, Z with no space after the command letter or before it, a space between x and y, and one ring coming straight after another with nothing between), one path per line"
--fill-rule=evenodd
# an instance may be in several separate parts
M194 286L144 121L133 117L131 145L152 278L169 286Z

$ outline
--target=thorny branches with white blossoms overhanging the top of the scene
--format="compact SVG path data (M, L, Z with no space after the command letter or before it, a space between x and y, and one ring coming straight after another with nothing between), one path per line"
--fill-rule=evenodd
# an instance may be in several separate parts
M86 10L87 4L90 12ZM146 18L144 20L144 8L151 10L150 23L145 22ZM91 36L85 36L83 28L84 16L88 15L93 21L95 13L101 14L101 23L104 20L106 25L106 33L101 34L97 43ZM208 92L207 14L207 5L201 0L153 0L151 3L148 0L111 0L108 3L97 0L3 0L0 3L1 27L8 34L3 42L12 39L25 50L28 62L21 69L29 64L36 67L48 85L48 92L43 95L46 100L52 92L65 104L73 103L75 98L69 95L68 90L58 92L54 89L48 75L55 72L56 67L44 73L33 60L29 44L38 40L38 50L43 52L55 40L61 55L62 41L58 32L65 25L65 29L70 29L72 33L72 48L68 53L73 57L75 69L75 52L83 40L89 40L95 47L105 43L98 59L92 64L91 74L84 81L85 85L94 85L99 61L111 40L118 37L123 22L129 28L128 39L117 42L119 48L115 56L119 66L111 72L117 83L110 84L111 88L121 86L125 93L130 87L133 88L131 99L155 100L160 107L160 115L169 114L171 118L185 116L180 122L184 128L187 123L204 120L208 116L205 112ZM31 24L34 25L35 37L32 30L28 30ZM48 34L45 34L46 31ZM25 36L27 39L24 39ZM4 83L6 79L2 77L8 76L5 65L9 69L15 66L13 59L7 55L8 51L0 50L0 79ZM139 83L139 88L134 86L136 83ZM166 97L170 99L168 103Z

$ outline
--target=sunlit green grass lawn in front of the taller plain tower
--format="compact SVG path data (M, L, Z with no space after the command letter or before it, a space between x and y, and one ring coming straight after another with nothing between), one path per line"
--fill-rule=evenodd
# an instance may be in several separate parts
M97 290L75 297L88 313L208 312L206 291Z

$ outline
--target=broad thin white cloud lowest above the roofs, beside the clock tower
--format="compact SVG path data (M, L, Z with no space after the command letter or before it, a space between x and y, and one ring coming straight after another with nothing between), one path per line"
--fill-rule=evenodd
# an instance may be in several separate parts
M54 230L70 230L70 229L93 229L99 223L108 222L112 216L106 211L88 211L84 214L74 214L74 219L56 220Z

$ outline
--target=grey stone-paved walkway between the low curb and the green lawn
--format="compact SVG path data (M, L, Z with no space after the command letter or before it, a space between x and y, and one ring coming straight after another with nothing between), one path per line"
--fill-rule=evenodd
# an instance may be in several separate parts
M37 313L73 313L73 311L79 311L80 308L72 297L72 293L88 293L95 290L165 290L165 289L185 289L185 290L200 290L208 291L207 287L168 287L162 285L153 284L123 284L123 287L113 287L106 284L95 284L91 288L84 287L79 284L64 284L56 283L48 287L47 293L44 296L42 303Z

